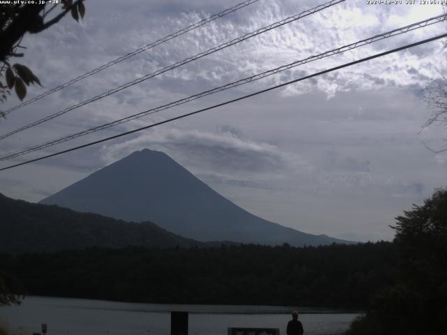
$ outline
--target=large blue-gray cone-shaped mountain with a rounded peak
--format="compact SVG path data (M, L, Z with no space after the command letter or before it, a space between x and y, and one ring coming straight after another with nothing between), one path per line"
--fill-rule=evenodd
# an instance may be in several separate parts
M41 201L125 221L151 221L200 241L316 246L350 243L254 216L160 151L143 149Z

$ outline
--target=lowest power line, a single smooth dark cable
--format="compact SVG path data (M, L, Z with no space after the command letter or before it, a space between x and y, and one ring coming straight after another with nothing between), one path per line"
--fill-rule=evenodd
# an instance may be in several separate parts
M82 144L82 145L80 145L78 147L73 147L73 148L70 148L70 149L59 151L59 152L56 152L54 154L49 154L49 155L42 156L42 157L39 157L39 158L31 159L29 161L24 161L22 163L9 165L6 168L1 168L0 171L16 168L17 166L21 166L21 165L25 165L25 164L29 164L29 163L34 163L36 161L41 161L41 160L43 160L45 158L50 158L50 157L53 157L53 156L59 156L61 154L66 154L67 152L71 152L71 151L75 151L75 150L82 149L82 148L85 148L85 147L89 147L89 146L94 145L94 144L106 142L106 141L109 141L109 140L114 140L115 138L118 138L118 137L122 137L122 136L125 136L125 135L130 135L132 133L137 133L138 131L143 131L143 130L148 129L148 128L153 128L155 126L160 126L161 124L167 124L169 122L172 122L172 121L175 121L175 120L178 120L178 119L183 119L184 117L190 117L191 115L198 114L200 112L205 112L207 110L212 110L214 108L221 107L223 105L228 105L230 103L235 103L236 101L241 101L241 100L244 100L246 98L250 98L252 96L257 96L258 94L263 94L265 92L272 91L273 89L278 89L279 87L284 87L286 85L293 84L295 82L300 82L302 80L306 80L306 79L309 79L309 78L312 78L312 77L316 77L318 75L324 75L325 73L330 73L332 71L339 70L341 68L346 68L348 66L353 66L355 64L359 64L359 63L362 63L364 61L369 61L371 59L383 57L383 56L386 56L387 54L392 54L394 52L398 52L398 51L401 51L401 50L409 49L410 47L416 47L417 45L422 45L424 43L428 43L428 42L431 42L433 40L438 40L439 38L444 38L444 37L447 37L447 34L441 34L441 35L438 35L438 36L434 36L432 38L427 38L425 40L420 40L419 42L416 42L416 43L411 43L411 44L408 44L408 45L404 45L403 47L397 47L397 48L395 48L393 50L388 50L386 52L381 52L379 54L374 54L374 55L369 56L369 57L358 59L357 61L351 61L349 63L343 64L343 65L340 65L340 66L335 66L334 68L329 68L328 70L323 70L323 71L320 71L320 72L317 72L317 73L313 73L312 75L306 75L305 77L300 77L298 79L291 80L289 82L284 82L283 84L279 84L279 85L276 85L274 87L269 87L268 89L263 89L261 91L256 91L256 92L254 92L252 94L247 94L246 96L241 96L240 98L235 98L235 99L230 100L230 101L225 101L225 102L219 103L217 105L212 105L210 107L206 107L206 108L203 108L201 110L196 110L195 112L182 114L182 115L179 115L178 117L173 117L171 119L167 119L165 121L160 121L160 122L157 122L155 124L149 124L148 126L144 126L144 127L141 127L141 128L134 129L133 131L126 131L125 133L121 133L121 134L118 134L118 135L113 135L113 136L110 136L110 137L105 137L102 140L97 140L97 141L94 141L94 142L89 142L87 144Z

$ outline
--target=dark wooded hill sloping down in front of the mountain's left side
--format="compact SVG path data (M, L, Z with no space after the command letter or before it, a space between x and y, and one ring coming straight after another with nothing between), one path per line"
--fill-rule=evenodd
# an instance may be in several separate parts
M204 246L154 225L13 200L0 194L0 252L23 253L89 246Z

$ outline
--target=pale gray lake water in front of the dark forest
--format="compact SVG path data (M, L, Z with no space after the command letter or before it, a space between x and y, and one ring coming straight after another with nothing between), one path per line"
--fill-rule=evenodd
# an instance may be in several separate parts
M170 311L188 311L190 335L226 335L228 327L279 328L285 335L293 309L27 297L20 306L0 307L0 323L17 335L41 332L42 323L47 335L169 335ZM358 315L296 309L306 335L341 334Z

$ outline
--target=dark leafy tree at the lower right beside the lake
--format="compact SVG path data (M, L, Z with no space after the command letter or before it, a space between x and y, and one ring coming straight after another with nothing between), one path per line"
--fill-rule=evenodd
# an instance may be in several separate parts
M396 218L400 276L372 301L348 334L445 334L447 329L447 190Z

